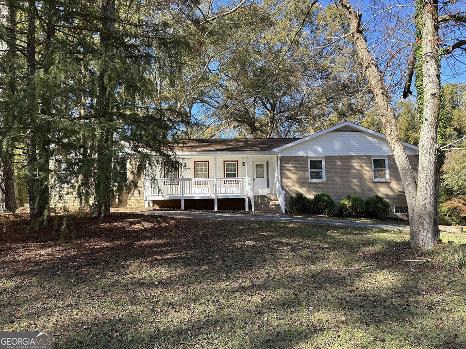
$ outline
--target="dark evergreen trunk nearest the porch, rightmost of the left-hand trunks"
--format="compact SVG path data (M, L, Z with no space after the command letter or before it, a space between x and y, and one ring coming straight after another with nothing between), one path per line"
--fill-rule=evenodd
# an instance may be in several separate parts
M113 198L112 162L115 89L109 64L114 59L112 35L115 30L115 0L102 0L102 26L100 48L103 64L99 73L99 92L97 97L97 117L100 126L97 144L97 165L95 174L94 203L92 214L101 217L110 214Z

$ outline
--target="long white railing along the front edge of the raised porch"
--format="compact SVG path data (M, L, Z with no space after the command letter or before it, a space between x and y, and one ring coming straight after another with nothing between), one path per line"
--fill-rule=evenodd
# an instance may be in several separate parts
M156 183L146 184L146 196L250 195L252 192L252 185L247 178L156 178L155 180Z

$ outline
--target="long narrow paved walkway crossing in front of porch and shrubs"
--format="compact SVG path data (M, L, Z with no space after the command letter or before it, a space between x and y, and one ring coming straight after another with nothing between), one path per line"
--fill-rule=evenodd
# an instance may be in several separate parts
M141 212L152 216L167 216L173 218L204 219L204 220L246 220L246 221L267 221L267 222L299 222L299 223L320 223L332 225L347 225L363 228L378 229L400 229L409 230L409 226L390 225L368 222L351 222L339 220L320 220L314 218L300 218L290 216L260 216L244 213L212 213L212 212L192 212L192 211L147 211Z

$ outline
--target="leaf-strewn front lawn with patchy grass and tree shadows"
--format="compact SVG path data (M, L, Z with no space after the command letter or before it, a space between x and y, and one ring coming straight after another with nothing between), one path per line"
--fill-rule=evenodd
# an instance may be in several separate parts
M400 230L115 213L63 243L2 220L0 329L54 348L466 348L466 272L442 259L465 235L421 258Z

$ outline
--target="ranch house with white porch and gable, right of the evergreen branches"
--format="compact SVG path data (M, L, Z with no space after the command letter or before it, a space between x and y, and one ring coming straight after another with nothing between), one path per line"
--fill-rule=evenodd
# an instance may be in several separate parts
M418 149L403 144L416 173ZM146 206L281 213L300 191L310 198L325 192L337 204L348 194L379 194L391 203L392 216L407 213L386 137L350 122L301 139L183 140L175 151L180 169L146 176Z

